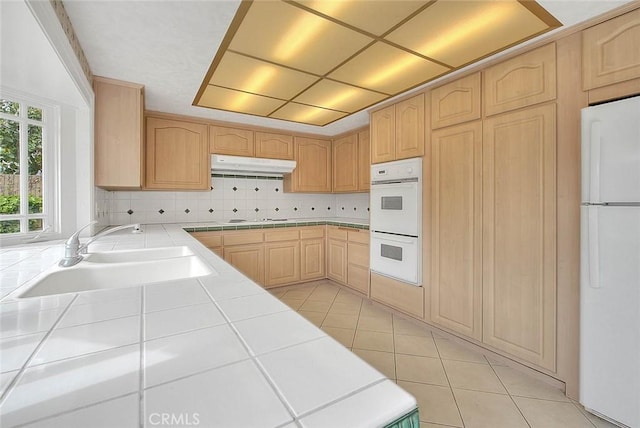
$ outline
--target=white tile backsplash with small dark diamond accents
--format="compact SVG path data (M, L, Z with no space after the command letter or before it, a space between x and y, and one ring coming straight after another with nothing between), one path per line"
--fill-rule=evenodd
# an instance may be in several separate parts
M96 215L108 211L111 224L369 217L368 193L285 193L276 177L215 176L211 182L206 192L100 191Z

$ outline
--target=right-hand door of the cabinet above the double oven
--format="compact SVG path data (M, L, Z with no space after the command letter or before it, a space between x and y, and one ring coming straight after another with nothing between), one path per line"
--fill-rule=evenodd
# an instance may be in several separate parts
M424 94L396 104L396 159L424 155Z

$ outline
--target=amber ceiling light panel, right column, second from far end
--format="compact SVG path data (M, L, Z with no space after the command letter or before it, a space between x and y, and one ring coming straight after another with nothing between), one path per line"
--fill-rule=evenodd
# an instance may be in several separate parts
M323 79L296 97L294 101L352 113L385 98L387 98L385 94Z

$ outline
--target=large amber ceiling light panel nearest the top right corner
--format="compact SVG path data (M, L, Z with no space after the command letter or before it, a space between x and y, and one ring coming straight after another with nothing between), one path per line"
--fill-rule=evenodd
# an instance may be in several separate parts
M440 0L386 39L459 67L547 29L545 21L515 0Z

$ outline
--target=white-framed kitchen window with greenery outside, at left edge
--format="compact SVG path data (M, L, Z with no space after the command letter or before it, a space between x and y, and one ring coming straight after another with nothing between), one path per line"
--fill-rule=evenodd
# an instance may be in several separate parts
M55 232L58 109L0 95L0 236Z

